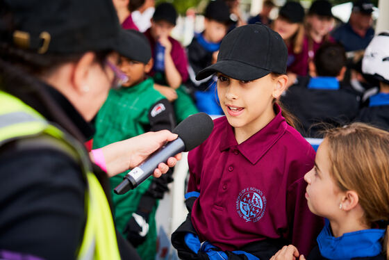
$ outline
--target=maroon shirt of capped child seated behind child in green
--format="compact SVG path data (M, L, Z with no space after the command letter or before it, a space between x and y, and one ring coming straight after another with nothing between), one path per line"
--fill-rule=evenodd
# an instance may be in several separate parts
M147 39L149 39L150 46L151 46L151 54L155 58L155 49L156 49L156 41L151 36L150 29L144 32L144 35L146 35ZM173 39L169 36L169 41L172 43L172 51L170 51L170 55L172 56L173 63L176 66L176 69L179 71L179 74L181 75L182 82L184 83L188 79L188 58L186 58L185 50L181 46L180 42L178 40ZM150 76L154 76L155 72L154 69L149 72Z

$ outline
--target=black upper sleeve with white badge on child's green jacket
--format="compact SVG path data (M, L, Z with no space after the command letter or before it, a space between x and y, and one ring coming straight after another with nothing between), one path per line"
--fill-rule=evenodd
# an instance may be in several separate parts
M167 99L160 99L149 109L149 131L169 130L176 127L174 108Z

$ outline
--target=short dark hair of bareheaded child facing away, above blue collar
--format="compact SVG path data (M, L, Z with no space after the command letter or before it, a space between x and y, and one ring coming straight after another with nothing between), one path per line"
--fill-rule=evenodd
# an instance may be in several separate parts
M326 42L317 49L313 62L317 76L338 76L346 65L345 48L338 43Z

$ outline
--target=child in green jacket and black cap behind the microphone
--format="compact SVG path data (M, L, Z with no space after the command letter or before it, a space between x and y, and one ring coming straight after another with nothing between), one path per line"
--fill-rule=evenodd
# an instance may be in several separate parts
M154 89L154 81L146 74L153 66L147 38L138 31L126 31L132 56L122 56L120 69L129 81L118 90L110 90L108 98L95 120L93 147L138 136L147 131L172 130L174 111L163 95ZM127 171L128 172L128 171ZM127 172L110 178L111 190L123 180ZM142 259L153 259L156 254L155 213L158 199L172 181L169 172L160 178L149 178L125 195L112 193L115 226L135 247Z

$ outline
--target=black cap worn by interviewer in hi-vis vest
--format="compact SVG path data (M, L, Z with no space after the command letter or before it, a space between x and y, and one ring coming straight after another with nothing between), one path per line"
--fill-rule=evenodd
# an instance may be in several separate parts
M0 42L39 54L131 51L112 0L3 0ZM90 7L93 6L93 10ZM8 18L11 17L13 29Z

